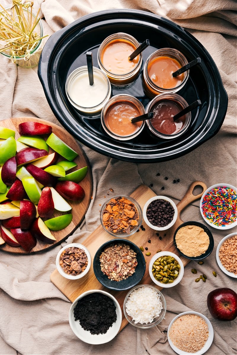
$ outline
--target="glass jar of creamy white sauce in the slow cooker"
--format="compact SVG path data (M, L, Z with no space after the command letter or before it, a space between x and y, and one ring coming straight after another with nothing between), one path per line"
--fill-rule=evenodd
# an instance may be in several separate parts
M70 73L66 80L66 95L79 112L96 115L111 97L111 84L100 69L93 67L94 83L90 85L87 66Z

